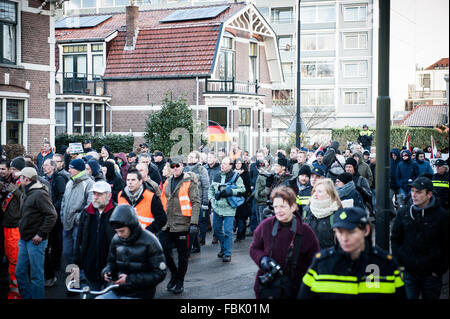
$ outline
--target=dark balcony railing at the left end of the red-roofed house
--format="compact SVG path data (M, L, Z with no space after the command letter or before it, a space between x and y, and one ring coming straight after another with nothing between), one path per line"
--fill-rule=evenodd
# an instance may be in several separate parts
M97 74L59 72L56 76L62 83L60 92L63 94L105 95L106 82Z

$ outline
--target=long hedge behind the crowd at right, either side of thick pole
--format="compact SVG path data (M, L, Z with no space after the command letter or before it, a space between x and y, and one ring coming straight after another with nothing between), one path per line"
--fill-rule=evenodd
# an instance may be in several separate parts
M372 146L376 145L376 130L375 128L369 128L374 132L374 139ZM436 148L439 152L448 153L449 149L449 135L448 131L442 131L438 128L415 128L406 126L394 126L391 127L390 132L390 149L397 147L402 148L403 141L405 140L406 132L409 130L411 148L418 147L425 149L428 145L431 145L431 136L433 136L436 143ZM341 150L346 147L347 141L356 142L358 139L360 127L346 126L343 129L333 129L332 139L336 140L341 145Z

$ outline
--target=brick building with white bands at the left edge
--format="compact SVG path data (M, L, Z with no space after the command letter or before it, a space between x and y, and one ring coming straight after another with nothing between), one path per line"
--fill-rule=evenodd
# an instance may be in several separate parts
M0 1L1 143L34 154L54 141L55 2Z

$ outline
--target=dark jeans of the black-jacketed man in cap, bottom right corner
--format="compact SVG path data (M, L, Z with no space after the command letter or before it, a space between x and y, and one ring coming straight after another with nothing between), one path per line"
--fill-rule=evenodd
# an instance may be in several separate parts
M405 293L407 299L439 299L442 288L442 276L416 275L408 272L403 273Z

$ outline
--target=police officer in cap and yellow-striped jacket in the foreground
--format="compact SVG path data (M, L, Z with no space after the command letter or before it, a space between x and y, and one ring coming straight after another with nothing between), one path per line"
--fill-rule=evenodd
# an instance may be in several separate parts
M338 244L322 250L303 277L300 299L404 298L404 283L392 256L373 247L366 212L341 208L333 216Z

